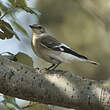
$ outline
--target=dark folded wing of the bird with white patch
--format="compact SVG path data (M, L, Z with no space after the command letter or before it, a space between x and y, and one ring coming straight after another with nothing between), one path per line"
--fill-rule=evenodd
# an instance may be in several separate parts
M61 52L65 52L71 55L74 55L78 58L83 58L83 59L88 59L87 57L80 55L78 53L76 53L75 51L73 51L71 48L69 48L68 46L66 46L63 43L60 43L59 41L57 41L55 38L48 36L48 37L43 37L40 40L41 45L50 48L54 51L61 51Z

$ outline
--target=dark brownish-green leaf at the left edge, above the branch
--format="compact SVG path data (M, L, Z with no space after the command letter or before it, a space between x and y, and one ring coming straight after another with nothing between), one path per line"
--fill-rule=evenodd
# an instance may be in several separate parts
M1 39L10 39L13 37L14 33L11 25L4 20L0 20L0 29L2 30L0 31Z

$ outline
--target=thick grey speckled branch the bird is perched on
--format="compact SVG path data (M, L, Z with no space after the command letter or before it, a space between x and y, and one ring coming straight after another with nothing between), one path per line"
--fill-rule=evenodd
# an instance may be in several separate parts
M70 72L40 71L0 56L0 92L43 104L110 110L110 87Z

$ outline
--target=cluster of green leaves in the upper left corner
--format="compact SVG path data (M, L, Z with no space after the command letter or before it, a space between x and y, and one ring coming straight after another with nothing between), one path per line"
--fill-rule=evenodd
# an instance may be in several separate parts
M8 0L7 2L8 5L3 1L0 1L0 39L10 39L15 35L15 37L20 40L19 36L14 32L13 27L2 19L4 17L10 17L11 19L9 22L11 22L18 31L22 32L25 36L28 36L27 31L17 23L15 14L19 13L21 10L37 16L40 16L40 13L33 8L27 7L25 0Z

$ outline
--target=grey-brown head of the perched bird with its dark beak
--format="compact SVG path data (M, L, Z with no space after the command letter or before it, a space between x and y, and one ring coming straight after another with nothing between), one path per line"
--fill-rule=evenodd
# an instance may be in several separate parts
M29 25L29 27L32 29L32 32L34 34L40 35L46 33L46 29L42 25L33 24L33 25Z

